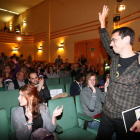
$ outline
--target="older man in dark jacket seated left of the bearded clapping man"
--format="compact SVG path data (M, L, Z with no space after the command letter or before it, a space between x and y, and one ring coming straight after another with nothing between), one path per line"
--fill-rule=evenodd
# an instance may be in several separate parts
M8 90L19 89L28 83L28 80L24 80L24 72L21 70L16 74L16 78L8 85Z

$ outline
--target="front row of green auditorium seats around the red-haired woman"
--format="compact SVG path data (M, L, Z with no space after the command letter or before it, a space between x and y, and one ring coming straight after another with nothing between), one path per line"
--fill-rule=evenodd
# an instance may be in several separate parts
M11 97L10 93L9 97ZM51 115L56 106L61 107L63 105L63 113L57 118L58 126L56 132L59 134L61 140L95 140L97 130L90 128L87 128L87 130L84 130L86 128L83 129L83 120L86 122L93 121L93 118L82 114L79 95L75 97L75 102L76 104L74 103L73 97L59 98L48 102ZM1 140L16 140L11 117L16 107L11 107L9 111L10 122L8 122L7 111L5 109L0 109Z

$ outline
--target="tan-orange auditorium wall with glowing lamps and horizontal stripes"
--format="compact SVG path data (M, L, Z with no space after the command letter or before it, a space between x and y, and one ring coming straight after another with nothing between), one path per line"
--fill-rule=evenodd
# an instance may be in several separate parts
M126 5L126 10L120 15L121 18L127 17L136 11L139 11L139 0L123 0L122 4ZM107 30L109 34L114 29L113 15L116 13L116 0L46 0L41 4L28 9L19 16L15 16L12 26L21 25L21 32L33 32L34 43L26 44L30 50L32 46L34 50L31 52L34 59L46 60L54 62L57 55L61 55L62 59L69 59L74 62L74 43L77 41L90 40L100 38L100 23L98 21L98 12L102 11L103 5L109 5L110 13L108 16ZM119 23L127 22L122 26L129 26L136 31L136 40L134 42L134 50L139 51L139 13L130 16ZM23 21L26 19L26 26ZM59 50L58 46L64 42L64 49ZM38 53L40 44L43 47L41 53ZM23 47L25 44L20 44ZM19 53L27 53L24 48ZM103 63L103 58L102 58Z

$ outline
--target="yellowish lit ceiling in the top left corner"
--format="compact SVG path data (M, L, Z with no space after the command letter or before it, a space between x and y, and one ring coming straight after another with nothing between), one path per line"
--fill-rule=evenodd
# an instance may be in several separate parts
M0 8L16 13L22 13L44 0L0 0ZM0 10L0 22L8 22L15 14Z

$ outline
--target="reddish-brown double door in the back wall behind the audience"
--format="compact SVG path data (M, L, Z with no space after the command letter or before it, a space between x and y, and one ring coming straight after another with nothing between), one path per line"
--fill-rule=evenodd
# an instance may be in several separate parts
M81 55L87 59L87 62L96 69L99 69L99 74L104 73L104 59L107 58L107 53L102 47L101 39L92 39L78 41L74 44L74 62L78 63Z

